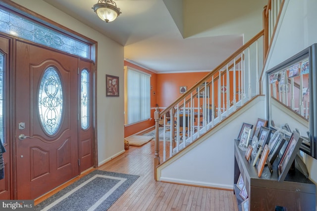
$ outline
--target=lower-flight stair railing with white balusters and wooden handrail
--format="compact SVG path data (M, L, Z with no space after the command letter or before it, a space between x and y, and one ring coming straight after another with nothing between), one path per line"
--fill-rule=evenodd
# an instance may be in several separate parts
M163 127L161 137L156 119L156 141L163 141L163 162L259 94L260 89L257 86L263 60L260 61L258 55L260 50L263 51L263 36L264 30L166 109L159 113L157 108L155 119L163 119L163 125L160 126ZM169 124L167 112L170 114ZM156 149L156 155L159 156L159 149ZM156 160L159 164L158 158Z

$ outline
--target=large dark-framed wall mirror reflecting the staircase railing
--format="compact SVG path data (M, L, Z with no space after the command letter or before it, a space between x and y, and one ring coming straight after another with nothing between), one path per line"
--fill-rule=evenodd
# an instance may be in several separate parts
M300 150L317 159L317 43L296 53L265 73L267 124L284 119L280 105L287 107L308 122L308 144L303 141ZM299 124L300 121L299 121ZM306 123L305 123L306 125ZM284 126L289 132L288 125ZM284 128L283 127L283 128ZM304 135L302 131L301 135ZM306 136L306 135L304 135ZM287 142L287 139L285 143Z

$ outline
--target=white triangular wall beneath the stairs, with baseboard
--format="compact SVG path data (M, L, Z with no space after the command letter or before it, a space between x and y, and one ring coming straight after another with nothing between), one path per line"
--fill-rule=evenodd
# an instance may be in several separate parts
M157 169L159 181L233 189L234 139L242 123L265 119L265 97L258 96Z

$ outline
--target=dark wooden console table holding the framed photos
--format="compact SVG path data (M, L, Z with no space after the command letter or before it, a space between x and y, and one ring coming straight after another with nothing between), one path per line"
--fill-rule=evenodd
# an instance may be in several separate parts
M237 188L239 175L243 178L249 197L249 211L275 211L276 206L287 208L287 211L315 211L316 210L316 185L304 176L302 172L295 172L286 176L284 181L278 181L277 162L273 164L273 173L264 167L261 177L258 177L258 163L253 166L253 159L247 161L245 151L234 141L234 191L239 210L244 201Z

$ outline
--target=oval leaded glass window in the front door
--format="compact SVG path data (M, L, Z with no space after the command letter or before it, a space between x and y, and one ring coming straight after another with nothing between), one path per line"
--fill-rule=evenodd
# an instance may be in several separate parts
M42 127L49 135L54 135L61 124L63 112L63 89L60 77L53 67L49 67L39 88L39 115Z

